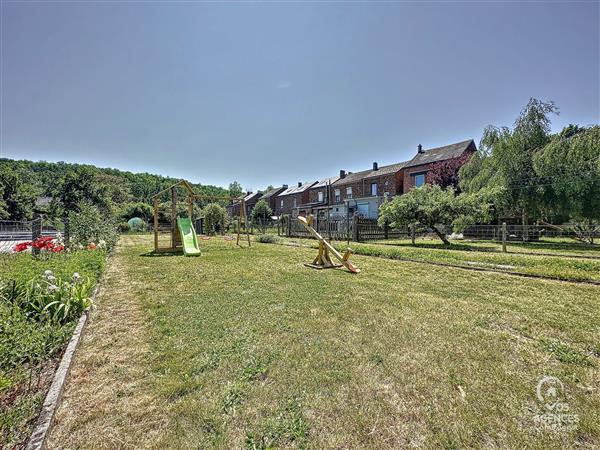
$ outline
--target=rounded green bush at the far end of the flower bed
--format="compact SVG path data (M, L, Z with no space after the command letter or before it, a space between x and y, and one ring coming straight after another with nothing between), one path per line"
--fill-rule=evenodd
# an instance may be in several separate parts
M70 244L81 248L94 244L110 250L118 239L112 218L107 218L89 203L80 203L78 209L79 212L69 213Z

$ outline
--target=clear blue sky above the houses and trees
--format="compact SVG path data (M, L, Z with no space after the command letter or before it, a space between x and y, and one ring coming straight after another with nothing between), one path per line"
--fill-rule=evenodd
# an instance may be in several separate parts
M0 156L249 190L600 122L598 1L1 0Z

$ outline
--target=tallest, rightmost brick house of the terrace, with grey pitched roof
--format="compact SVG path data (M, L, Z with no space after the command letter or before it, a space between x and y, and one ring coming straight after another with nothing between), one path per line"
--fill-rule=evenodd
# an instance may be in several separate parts
M435 163L460 158L465 153L473 154L476 151L477 146L473 139L430 150L424 150L423 146L419 144L417 154L404 165L403 192L408 192L415 186L425 184L427 172Z

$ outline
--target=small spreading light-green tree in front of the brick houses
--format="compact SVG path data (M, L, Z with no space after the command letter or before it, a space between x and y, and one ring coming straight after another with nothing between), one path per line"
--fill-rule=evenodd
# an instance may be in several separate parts
M454 195L454 189L424 185L384 203L379 211L379 225L389 223L392 228L419 224L430 228L444 242L450 244L447 230L464 228L484 220L489 207L475 196Z

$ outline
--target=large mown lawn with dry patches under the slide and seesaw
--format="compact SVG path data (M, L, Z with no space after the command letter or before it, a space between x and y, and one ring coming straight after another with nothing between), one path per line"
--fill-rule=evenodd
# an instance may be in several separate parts
M50 448L600 446L600 287L201 245L121 238ZM536 422L545 375L573 430Z

